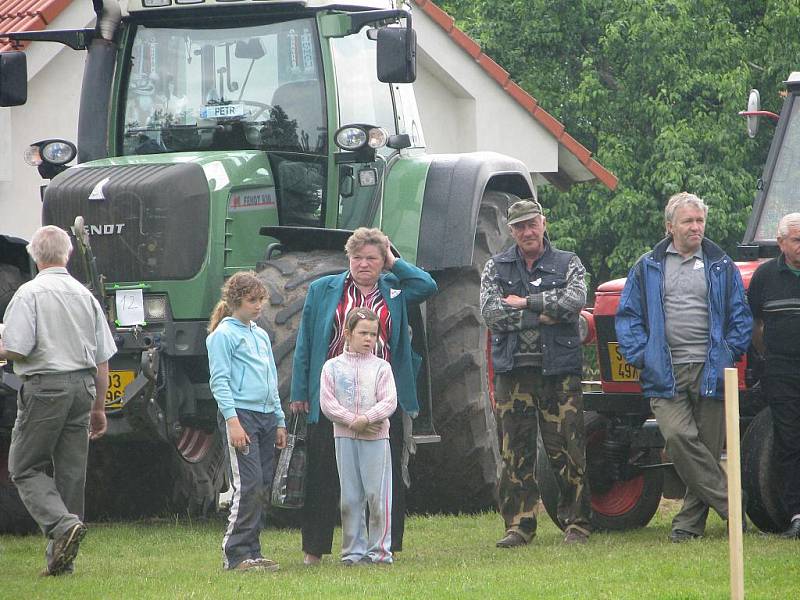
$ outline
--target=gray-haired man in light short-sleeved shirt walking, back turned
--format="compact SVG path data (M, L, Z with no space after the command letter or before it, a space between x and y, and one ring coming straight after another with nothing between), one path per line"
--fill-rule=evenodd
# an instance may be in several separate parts
M72 572L86 534L89 440L106 430L108 359L116 352L100 304L67 272L71 252L69 236L58 227L33 234L28 253L39 274L11 299L0 340L0 358L14 361L23 382L8 467L48 538L42 575Z

